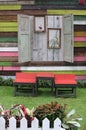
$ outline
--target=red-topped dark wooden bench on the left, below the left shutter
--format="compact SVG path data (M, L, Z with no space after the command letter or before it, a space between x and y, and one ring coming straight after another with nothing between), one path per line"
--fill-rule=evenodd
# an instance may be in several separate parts
M17 72L14 83L14 96L19 93L35 94L36 74L28 72Z

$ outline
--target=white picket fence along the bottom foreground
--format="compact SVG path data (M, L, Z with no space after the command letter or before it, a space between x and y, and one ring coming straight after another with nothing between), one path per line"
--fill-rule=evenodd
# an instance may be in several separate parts
M39 127L38 119L34 118L31 123L31 127L27 128L27 120L22 118L20 121L20 127L16 128L16 119L11 117L9 119L9 127L5 128L5 120L3 117L0 117L0 130L65 130L64 128L61 128L61 121L59 118L54 121L53 128L50 128L49 126L50 122L47 118L43 120L41 128Z

